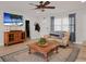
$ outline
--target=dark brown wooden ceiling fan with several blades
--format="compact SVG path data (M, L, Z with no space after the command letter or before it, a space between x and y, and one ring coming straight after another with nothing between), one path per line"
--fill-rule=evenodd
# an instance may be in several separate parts
M45 11L45 9L56 9L56 7L49 7L48 4L50 4L50 1L40 1L39 4L34 4L34 3L29 3L32 5L35 5L35 9L40 9L42 12Z

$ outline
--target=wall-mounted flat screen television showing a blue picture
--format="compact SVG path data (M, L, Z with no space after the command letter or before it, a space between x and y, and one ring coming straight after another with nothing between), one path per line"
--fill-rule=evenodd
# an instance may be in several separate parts
M23 16L11 13L3 13L4 25L23 25Z

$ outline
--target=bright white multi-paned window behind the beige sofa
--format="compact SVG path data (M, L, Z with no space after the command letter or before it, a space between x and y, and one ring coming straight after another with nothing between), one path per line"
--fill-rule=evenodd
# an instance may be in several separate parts
M57 18L54 17L54 31L69 30L69 17Z

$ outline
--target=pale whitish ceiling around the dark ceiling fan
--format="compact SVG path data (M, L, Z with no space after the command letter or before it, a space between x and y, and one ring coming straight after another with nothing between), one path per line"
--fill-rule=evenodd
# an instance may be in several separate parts
M36 7L29 3L38 4L39 1L1 1L0 10L3 11L20 11L24 13L38 13L40 10L34 10ZM51 1L49 5L56 7L56 9L47 9L45 13L59 13L73 10L81 10L86 8L86 2L81 1ZM27 14L28 14L27 13Z

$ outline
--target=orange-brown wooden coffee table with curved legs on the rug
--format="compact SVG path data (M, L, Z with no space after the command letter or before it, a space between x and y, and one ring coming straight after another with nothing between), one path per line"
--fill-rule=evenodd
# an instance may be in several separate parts
M39 47L37 44L37 42L27 44L28 53L30 54L34 52L39 52L39 53L44 54L46 61L49 61L48 60L49 52L54 51L57 53L59 44L57 42L47 42L47 43L48 43L48 46L46 46L46 47Z

